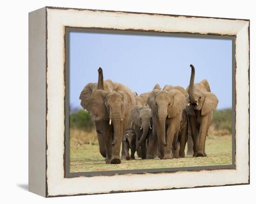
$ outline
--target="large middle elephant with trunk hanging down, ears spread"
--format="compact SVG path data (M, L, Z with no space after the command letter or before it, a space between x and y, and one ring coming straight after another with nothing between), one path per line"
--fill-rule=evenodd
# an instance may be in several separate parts
M186 107L184 94L177 89L169 88L154 89L148 96L148 105L153 112L153 133L156 132L157 135L160 159L173 159L172 147L177 149L182 111Z

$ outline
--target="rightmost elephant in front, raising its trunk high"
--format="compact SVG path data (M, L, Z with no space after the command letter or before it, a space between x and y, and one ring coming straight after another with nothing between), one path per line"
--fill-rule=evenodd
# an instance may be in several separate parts
M213 118L213 110L218 105L217 97L211 93L209 83L206 79L200 83L195 83L195 67L190 64L191 76L190 83L187 88L189 93L189 123L191 126L191 134L193 138L193 156L204 157L205 140L208 134L209 126Z

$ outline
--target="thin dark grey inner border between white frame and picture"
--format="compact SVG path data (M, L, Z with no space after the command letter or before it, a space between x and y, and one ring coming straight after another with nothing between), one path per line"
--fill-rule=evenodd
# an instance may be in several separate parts
M231 165L216 165L216 166L190 166L190 167L173 167L173 168L157 168L157 169L134 169L134 170L115 170L115 171L99 171L99 172L70 172L69 169L69 33L70 32L91 32L91 33L111 33L111 34L129 34L129 35L145 35L145 36L166 36L166 37L182 37L182 38L209 38L209 39L231 39L232 40L232 164ZM235 157L235 123L236 123L236 57L235 57L235 41L234 35L216 35L216 34L198 34L198 33L174 33L174 32L156 32L156 31L141 31L141 30L119 30L119 29L104 29L104 28L81 28L65 26L65 139L64 139L64 177L92 177L92 176L112 176L116 174L143 174L143 173L174 173L178 171L200 171L200 170L223 170L223 169L236 169Z

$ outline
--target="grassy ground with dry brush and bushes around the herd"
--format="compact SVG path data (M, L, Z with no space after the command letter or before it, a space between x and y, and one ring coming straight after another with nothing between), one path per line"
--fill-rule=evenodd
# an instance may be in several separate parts
M83 111L83 110L82 110ZM85 111L84 111L85 112ZM130 169L151 169L188 166L216 166L232 164L231 109L214 113L213 124L206 140L207 157L186 156L179 159L141 159L135 153L135 160L121 160L121 164L105 164L98 147L94 127L80 128L79 118L89 120L80 111L70 117L70 172L95 172ZM73 120L75 119L75 120ZM76 125L74 125L74 122ZM89 121L86 121L89 124ZM78 124L78 125L77 125ZM83 121L81 121L83 124ZM93 123L92 123L93 124ZM83 127L83 126L82 126ZM185 150L186 153L187 149Z

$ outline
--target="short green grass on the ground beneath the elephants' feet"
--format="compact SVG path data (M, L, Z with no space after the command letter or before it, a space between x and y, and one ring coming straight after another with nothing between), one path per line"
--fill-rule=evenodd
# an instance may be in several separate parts
M129 169L170 168L186 166L216 166L232 164L232 137L209 136L206 140L207 157L185 157L180 159L121 160L119 165L105 164L98 145L70 142L70 172L95 172Z

